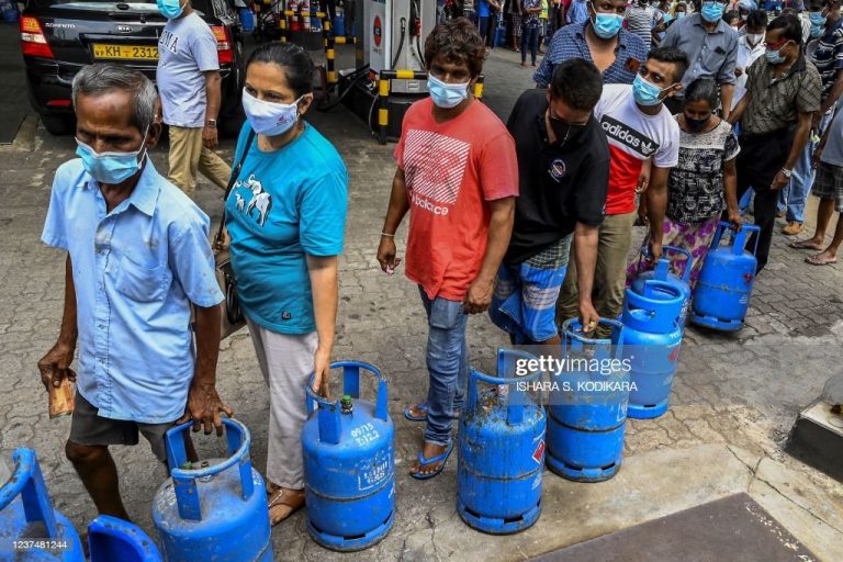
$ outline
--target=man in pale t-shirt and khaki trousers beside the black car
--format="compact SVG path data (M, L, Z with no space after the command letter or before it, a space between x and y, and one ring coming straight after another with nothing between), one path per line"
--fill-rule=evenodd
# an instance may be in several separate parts
M156 81L164 122L170 128L169 180L193 199L196 171L225 189L232 168L213 149L222 99L216 37L181 0L159 0L169 21L158 40Z

